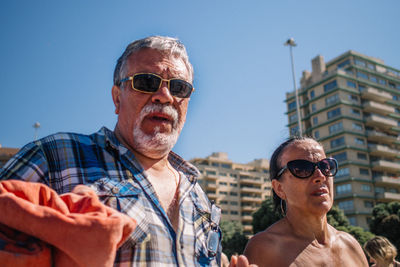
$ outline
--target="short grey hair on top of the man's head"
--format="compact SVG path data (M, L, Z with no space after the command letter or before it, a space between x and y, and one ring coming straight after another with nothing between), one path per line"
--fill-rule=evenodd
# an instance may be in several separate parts
M181 41L172 37L150 36L134 41L126 47L124 53L122 56L120 56L117 61L117 65L115 66L114 85L119 86L121 84L121 80L125 78L122 76L125 75L124 68L129 56L143 48L152 48L159 51L165 51L169 52L171 55L180 57L189 71L190 82L193 82L193 66L189 62L186 48Z

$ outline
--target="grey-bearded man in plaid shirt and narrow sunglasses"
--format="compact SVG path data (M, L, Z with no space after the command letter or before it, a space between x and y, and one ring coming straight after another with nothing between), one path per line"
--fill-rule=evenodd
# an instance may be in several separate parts
M177 39L153 36L129 44L114 72L114 131L32 142L4 166L0 179L41 182L58 193L90 185L103 203L137 221L116 265L219 265L220 210L197 183L198 170L171 151L192 81Z

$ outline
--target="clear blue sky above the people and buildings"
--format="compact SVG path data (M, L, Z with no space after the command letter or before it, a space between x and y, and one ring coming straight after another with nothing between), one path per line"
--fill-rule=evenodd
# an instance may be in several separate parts
M148 35L178 37L195 93L175 146L186 159L214 151L246 163L288 136L285 93L311 59L355 50L400 68L400 1L31 1L0 3L0 143L21 147L59 131L111 129L116 59ZM299 84L299 83L298 83Z

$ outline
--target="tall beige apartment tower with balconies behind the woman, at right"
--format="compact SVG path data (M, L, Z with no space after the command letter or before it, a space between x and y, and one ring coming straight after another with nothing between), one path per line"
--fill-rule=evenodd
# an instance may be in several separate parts
M299 91L305 135L339 162L335 203L368 228L377 203L400 200L400 70L348 51L312 60ZM298 131L295 93L286 94L290 134Z

